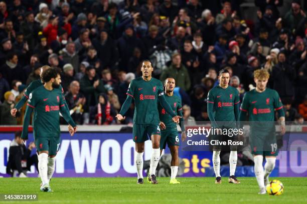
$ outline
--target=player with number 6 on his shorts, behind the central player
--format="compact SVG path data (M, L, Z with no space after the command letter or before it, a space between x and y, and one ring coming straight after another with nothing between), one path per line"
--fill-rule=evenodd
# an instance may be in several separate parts
M177 112L178 115L182 115L182 106L181 98L177 95L174 95L174 88L176 86L175 78L168 77L164 82L165 86L165 98L168 103L172 106L174 112ZM177 125L172 120L172 116L168 114L165 109L159 104L159 115L160 115L160 127L161 127L161 140L160 140L160 151L166 148L166 144L171 150L172 160L171 160L171 180L170 184L180 183L176 179L179 165L178 149L180 146L180 141L178 138ZM181 126L181 141L184 141L187 138L184 119L180 118Z

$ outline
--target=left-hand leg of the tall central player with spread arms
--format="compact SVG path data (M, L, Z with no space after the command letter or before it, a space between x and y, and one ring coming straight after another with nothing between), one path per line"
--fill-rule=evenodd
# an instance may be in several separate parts
M134 161L136 164L137 183L142 184L143 180L143 154L146 131L143 124L133 125L133 141L135 142Z

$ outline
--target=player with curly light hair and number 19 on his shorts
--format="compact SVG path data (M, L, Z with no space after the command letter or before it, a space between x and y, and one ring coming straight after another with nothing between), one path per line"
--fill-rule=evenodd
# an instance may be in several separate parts
M248 120L250 123L250 146L254 155L254 170L260 188L259 194L265 194L265 185L269 183L269 174L272 172L277 151L275 135L275 110L281 121L281 134L285 133L285 117L283 105L277 91L267 88L269 72L265 69L254 71L256 88L245 93L240 110L240 121ZM242 125L242 122L241 122ZM266 163L262 166L263 156Z

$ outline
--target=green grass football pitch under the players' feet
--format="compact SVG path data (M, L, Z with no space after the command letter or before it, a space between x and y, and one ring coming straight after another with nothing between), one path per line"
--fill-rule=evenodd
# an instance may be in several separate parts
M136 184L132 177L52 178L53 192L40 192L40 178L0 178L0 194L37 193L38 201L19 203L307 203L306 177L278 177L284 185L280 196L258 195L256 178L239 177L240 184L215 184L213 177L178 177L181 184ZM270 178L270 180L273 178ZM0 201L16 203L16 201Z

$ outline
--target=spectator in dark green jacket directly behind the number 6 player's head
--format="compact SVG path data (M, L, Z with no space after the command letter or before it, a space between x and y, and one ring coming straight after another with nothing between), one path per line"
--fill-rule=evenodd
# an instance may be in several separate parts
M175 53L172 56L172 64L165 69L160 80L164 81L168 77L173 77L177 81L177 86L181 87L185 91L188 91L191 87L191 80L188 69L181 63L181 54Z

